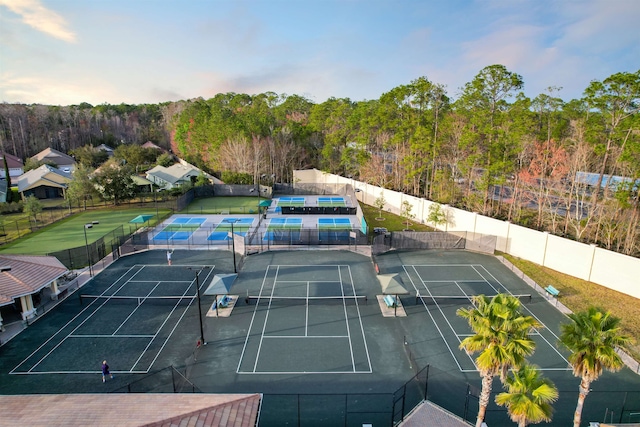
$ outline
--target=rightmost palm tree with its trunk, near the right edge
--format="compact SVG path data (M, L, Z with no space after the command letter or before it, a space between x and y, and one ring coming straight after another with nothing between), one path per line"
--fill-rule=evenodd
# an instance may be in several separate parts
M569 314L569 318L573 322L560 326L560 343L571 351L569 363L573 375L581 379L573 416L574 427L579 427L591 383L602 375L603 369L611 372L622 369L624 362L616 349L623 349L631 338L621 334L618 317L596 307Z

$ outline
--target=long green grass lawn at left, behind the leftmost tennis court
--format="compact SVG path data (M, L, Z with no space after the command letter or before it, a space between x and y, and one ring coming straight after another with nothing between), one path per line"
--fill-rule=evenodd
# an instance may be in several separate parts
M91 243L120 226L124 226L124 232L128 234L130 228L134 230L136 227L136 224L130 224L129 221L138 215L153 215L154 218L150 220L150 224L155 225L155 213L154 208L133 207L80 212L30 233L12 243L1 246L0 253L45 255L62 249L84 246L84 225L87 223L99 221L99 224L86 229L87 241ZM158 213L162 218L169 214L170 211L168 209L160 209ZM141 225L144 224L138 224L137 226L140 227Z

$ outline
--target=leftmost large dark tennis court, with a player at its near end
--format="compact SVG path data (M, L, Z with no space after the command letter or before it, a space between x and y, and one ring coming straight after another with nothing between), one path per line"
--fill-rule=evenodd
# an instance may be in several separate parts
M133 265L101 292L68 301L78 313L10 374L99 374L96 361L107 354L118 354L115 374L149 372L196 300L188 269L213 274L213 266Z

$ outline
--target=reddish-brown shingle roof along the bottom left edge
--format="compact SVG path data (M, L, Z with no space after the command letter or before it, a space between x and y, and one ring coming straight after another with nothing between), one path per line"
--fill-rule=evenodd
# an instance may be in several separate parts
M254 427L260 399L259 394L0 396L0 424L29 427Z

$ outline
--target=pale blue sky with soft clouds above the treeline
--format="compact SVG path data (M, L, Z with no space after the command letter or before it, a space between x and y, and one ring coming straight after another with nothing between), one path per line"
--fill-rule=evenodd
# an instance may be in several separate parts
M639 22L640 0L0 0L0 102L362 101L419 77L456 99L493 64L568 101L640 69Z

